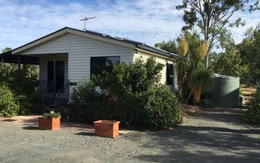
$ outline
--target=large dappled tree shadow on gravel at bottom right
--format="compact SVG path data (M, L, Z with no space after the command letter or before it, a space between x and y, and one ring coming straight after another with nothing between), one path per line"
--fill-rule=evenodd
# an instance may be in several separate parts
M241 134L210 132L210 128L181 126L167 132L149 133L141 148L159 148L163 154L139 155L148 162L260 162L260 140ZM221 129L223 130L223 129Z

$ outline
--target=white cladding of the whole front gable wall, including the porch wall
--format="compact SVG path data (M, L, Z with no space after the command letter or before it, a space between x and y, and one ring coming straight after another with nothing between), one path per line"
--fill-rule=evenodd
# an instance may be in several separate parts
M84 78L90 79L90 57L119 56L121 62L132 62L134 49L116 43L74 33L64 33L29 49L17 52L17 54L33 54L39 57L40 79L47 80L48 61L53 60L52 54L56 53L57 60L64 60L65 62L64 81L69 79L70 82L79 83ZM70 86L70 94L73 87Z

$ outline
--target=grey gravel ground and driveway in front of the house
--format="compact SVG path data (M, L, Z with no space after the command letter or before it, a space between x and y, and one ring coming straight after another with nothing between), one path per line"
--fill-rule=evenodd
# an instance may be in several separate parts
M260 162L260 126L242 109L208 109L168 131L96 137L0 122L0 162Z

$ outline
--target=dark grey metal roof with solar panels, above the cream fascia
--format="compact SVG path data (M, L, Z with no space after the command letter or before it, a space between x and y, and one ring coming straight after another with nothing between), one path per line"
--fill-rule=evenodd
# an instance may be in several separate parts
M135 45L136 47L138 47L138 48L142 48L142 49L147 50L147 51L155 52L155 53L161 54L162 56L172 57L172 58L174 58L174 59L180 59L180 58L181 58L180 56L178 56L178 55L176 55L176 54L169 53L169 52L167 52L167 51L164 51L164 50L161 50L161 49L158 49L158 48L154 48L154 47L152 47L152 46L146 45L146 44L143 43L143 42L138 42L138 41L134 41L134 40L130 40L130 39L127 39L127 38L122 38L122 37L117 37L117 36L113 36L113 35L108 35L108 34L105 34L105 33L94 32L94 31L91 31L91 30L84 30L84 31L83 31L83 30L79 30L79 29L70 28L70 27L67 27L67 26L64 27L64 28L62 28L62 29L59 29L59 30L57 30L57 31L55 31L55 32L52 32L52 33L50 33L50 34L48 34L48 35L45 35L45 36L43 36L43 37L41 37L41 38L38 38L38 39L36 39L36 40L34 40L34 41L32 41L32 42L38 41L38 40L40 40L40 39L42 39L42 38L45 38L45 37L47 37L47 36L49 36L49 35L52 35L52 34L54 34L54 33L57 33L57 32L59 32L59 31L61 31L61 30L63 30L63 29L66 29L66 28L68 28L68 29L73 29L73 30L80 31L80 32L86 32L86 33L89 33L89 34L98 35L98 36L101 36L101 37L106 37L106 38L110 38L110 39L114 39L114 40L118 40L118 41L122 41L122 42L127 42L127 43L130 43L130 44L134 44L134 45ZM25 44L25 45L22 45L22 46L18 47L18 48L21 48L21 47L23 47L23 46L26 46L26 45L28 45L28 44L31 44L32 42L29 42L29 43L27 43L27 44ZM15 48L15 49L13 49L13 50L11 50L11 51L14 51L14 50L16 50L16 49L18 49L18 48ZM11 51L9 51L8 53L10 54ZM2 54L0 54L0 55L3 55L3 54L5 54L5 53L2 53Z

